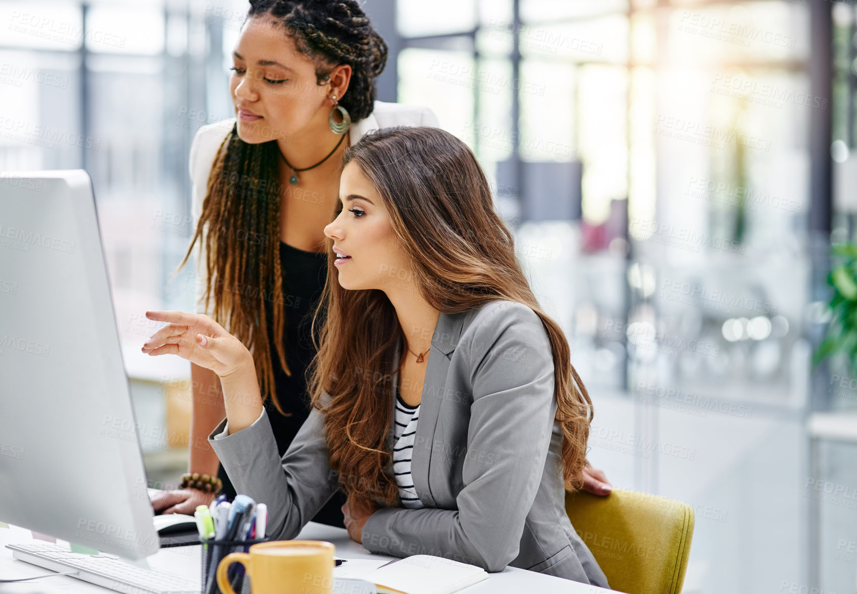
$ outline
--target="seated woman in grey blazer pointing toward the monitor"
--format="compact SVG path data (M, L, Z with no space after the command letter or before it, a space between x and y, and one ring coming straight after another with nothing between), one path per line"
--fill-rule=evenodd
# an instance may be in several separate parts
M440 128L383 128L345 152L325 228L313 410L279 457L248 349L204 315L151 354L214 371L226 419L209 441L237 492L295 538L341 488L366 549L521 567L607 587L572 528L592 407L560 326L515 259L470 149Z

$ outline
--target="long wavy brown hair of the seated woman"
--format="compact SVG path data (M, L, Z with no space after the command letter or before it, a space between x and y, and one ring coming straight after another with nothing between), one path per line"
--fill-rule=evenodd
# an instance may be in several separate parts
M554 359L556 420L565 437L561 466L579 488L592 403L571 364L559 324L536 301L515 258L512 233L494 210L488 181L470 148L431 127L382 128L345 151L386 207L420 294L443 313L489 301L517 301L542 320ZM309 392L325 415L330 465L350 496L396 502L398 487L385 472L392 424L395 350L403 332L387 295L345 290L328 239L327 283L317 305ZM323 312L323 315L322 315ZM325 395L327 393L327 395Z

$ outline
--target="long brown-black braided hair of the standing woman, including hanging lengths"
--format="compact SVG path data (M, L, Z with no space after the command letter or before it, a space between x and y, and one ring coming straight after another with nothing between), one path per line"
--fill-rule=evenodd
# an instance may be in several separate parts
M251 0L245 23L257 16L272 18L284 36L294 39L297 50L318 62L319 85L327 82L335 66L351 65L349 88L339 104L352 122L372 113L375 77L387 63L387 44L357 0ZM213 163L202 213L178 268L188 261L196 241L204 242L205 307L213 300L213 318L253 353L262 397L270 397L284 413L266 330L273 326L273 336L279 337L273 340L279 364L291 376L283 345L285 296L279 256L279 208L286 186L279 179L276 142L248 144L232 127ZM267 304L273 306L271 321Z

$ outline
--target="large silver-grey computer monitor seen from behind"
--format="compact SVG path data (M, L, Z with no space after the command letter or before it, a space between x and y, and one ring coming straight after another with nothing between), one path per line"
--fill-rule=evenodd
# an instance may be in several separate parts
M152 555L135 427L89 175L0 172L0 520Z

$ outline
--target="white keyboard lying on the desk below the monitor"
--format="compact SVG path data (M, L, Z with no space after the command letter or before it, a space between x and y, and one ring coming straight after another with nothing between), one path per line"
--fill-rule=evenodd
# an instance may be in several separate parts
M82 579L128 594L200 594L199 583L169 573L141 569L115 555L83 555L50 543L7 544L12 556L55 572L76 571L70 577Z

